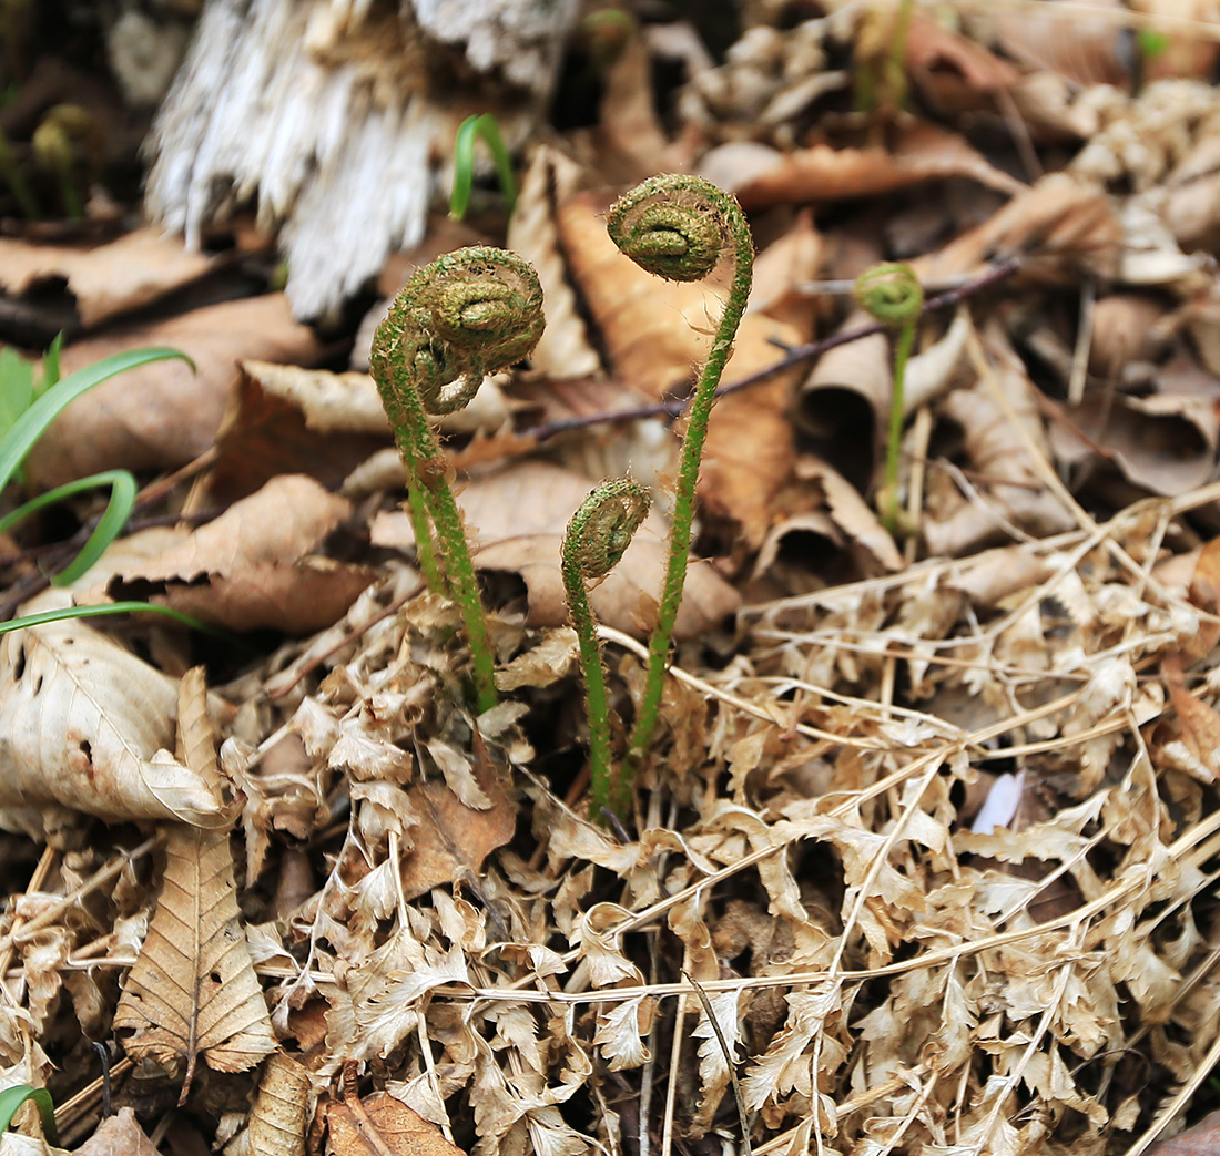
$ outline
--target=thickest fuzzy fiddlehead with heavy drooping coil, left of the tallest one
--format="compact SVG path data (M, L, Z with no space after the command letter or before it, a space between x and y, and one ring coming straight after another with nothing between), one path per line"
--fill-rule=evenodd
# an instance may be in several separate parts
M483 377L505 369L538 343L544 321L533 267L500 249L459 249L420 269L373 335L370 365L406 462L410 512L428 585L461 607L479 710L495 704L494 658L461 513L429 415L461 409ZM432 556L434 546L444 579Z

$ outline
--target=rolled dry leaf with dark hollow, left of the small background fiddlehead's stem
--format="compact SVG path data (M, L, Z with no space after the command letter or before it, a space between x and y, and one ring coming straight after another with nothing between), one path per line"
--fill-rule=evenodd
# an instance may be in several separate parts
M838 332L871 323L860 310ZM793 419L806 445L861 491L872 482L893 388L889 341L877 333L825 352L797 394Z

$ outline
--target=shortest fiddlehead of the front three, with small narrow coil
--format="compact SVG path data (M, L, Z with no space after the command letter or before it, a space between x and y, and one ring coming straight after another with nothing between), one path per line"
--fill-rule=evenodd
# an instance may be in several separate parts
M632 535L648 517L650 502L648 490L631 478L606 482L584 499L564 537L564 587L580 641L589 710L590 812L594 818L608 806L617 815L625 813L631 800L632 779L630 768L620 767L615 773L612 767L605 672L601 669L601 651L584 583L604 578L619 565Z

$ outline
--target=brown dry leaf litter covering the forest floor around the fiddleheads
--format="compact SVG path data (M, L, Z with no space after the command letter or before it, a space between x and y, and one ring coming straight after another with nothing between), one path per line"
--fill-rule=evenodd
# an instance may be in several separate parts
M0 643L0 1084L50 1086L63 1143L123 1121L124 1151L178 1129L232 1156L1215 1151L1213 56L1170 30L1133 77L1124 27L1171 6L1097 5L1070 48L1078 6L1017 7L1038 20L920 12L894 72L880 6L758 5L721 62L683 57L664 116L638 85L665 41L637 29L616 160L578 132L532 152L511 235L553 337L450 443L497 606L483 715L401 469L370 458L367 380L314 371L278 299L157 323L204 343L203 384L149 367L139 405L99 390L40 446L43 482L179 469L145 494L178 524L40 598L161 599L255 648L207 652L207 689L156 624ZM555 556L625 462L664 510L664 415L580 426L681 394L719 310L606 249L615 166L662 155L738 189L770 265L730 382L858 328L834 285L882 256L963 291L913 360L899 540L872 512L884 335L720 402L664 735L606 828ZM111 304L105 246L27 249L5 283L65 279L92 327L205 272L167 251ZM654 562L594 591L620 722Z

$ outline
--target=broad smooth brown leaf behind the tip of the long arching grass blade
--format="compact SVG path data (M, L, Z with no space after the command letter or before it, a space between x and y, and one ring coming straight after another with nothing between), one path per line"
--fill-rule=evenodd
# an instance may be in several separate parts
M70 345L65 373L140 345L181 349L195 363L157 361L78 398L29 455L30 479L59 485L100 469L173 469L220 428L243 357L307 362L321 346L279 294L210 305L181 317Z

